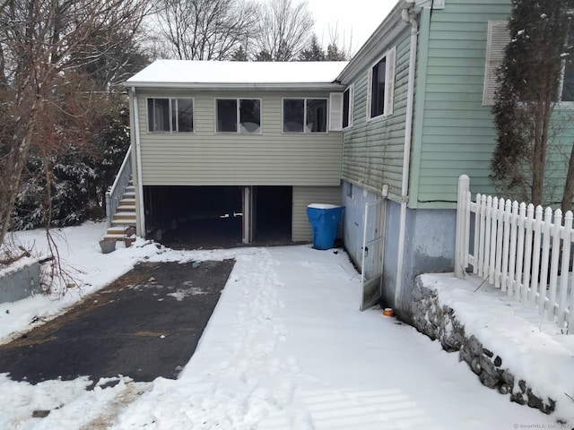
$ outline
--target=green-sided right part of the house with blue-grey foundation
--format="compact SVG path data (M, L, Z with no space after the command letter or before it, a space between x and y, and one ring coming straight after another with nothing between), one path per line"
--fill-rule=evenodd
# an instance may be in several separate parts
M380 275L382 299L407 319L414 277L453 271L457 177L470 176L473 193L492 193L489 22L509 13L509 0L399 2L338 78L354 93L344 128L344 244L361 266L363 228L378 230L382 262L363 270ZM373 103L381 84L392 104L384 111ZM365 203L377 201L381 214L365 219Z

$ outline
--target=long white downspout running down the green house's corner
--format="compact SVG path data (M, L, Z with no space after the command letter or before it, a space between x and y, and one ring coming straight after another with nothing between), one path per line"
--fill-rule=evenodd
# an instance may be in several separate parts
M395 307L401 308L401 291L403 288L404 242L406 235L406 205L409 202L409 176L411 165L411 142L413 132L414 107L414 72L416 67L416 46L419 26L407 9L403 9L404 22L411 24L411 51L409 56L409 77L406 93L406 118L404 120L403 181L401 185L401 214L398 231L398 256L396 262Z

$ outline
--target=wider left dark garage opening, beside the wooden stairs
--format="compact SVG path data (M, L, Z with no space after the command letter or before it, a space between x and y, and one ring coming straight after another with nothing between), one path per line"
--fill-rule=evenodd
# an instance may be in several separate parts
M239 186L144 186L147 236L174 249L213 249L242 241Z

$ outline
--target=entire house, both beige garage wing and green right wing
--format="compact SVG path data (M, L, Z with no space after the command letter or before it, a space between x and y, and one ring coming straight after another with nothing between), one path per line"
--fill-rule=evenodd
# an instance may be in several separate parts
M138 234L240 213L245 243L267 224L309 241L307 204L341 203L362 307L382 298L408 318L414 277L453 271L458 176L492 193L510 8L400 0L348 64L150 65L126 82Z

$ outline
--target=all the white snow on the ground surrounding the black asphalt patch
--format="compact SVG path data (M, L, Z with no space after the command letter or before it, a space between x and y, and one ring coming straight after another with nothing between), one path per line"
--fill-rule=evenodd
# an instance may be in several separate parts
M31 386L0 375L0 429L574 426L574 407L562 407L568 424L558 425L556 416L510 403L508 396L483 387L457 354L444 352L439 342L396 323L380 309L361 313L360 279L341 251L317 251L309 245L171 251L140 239L135 247L100 254L98 239L104 230L98 223L61 232L62 257L83 286L68 289L61 299L31 297L0 305L0 336L8 340L29 328L35 316L61 312L142 259L235 258L195 355L177 381L120 378L114 387L93 391L84 390L85 378ZM41 232L19 236L42 246ZM570 362L553 361L552 356L543 365L572 372ZM535 369L532 374L544 377ZM51 412L31 417L36 409Z

